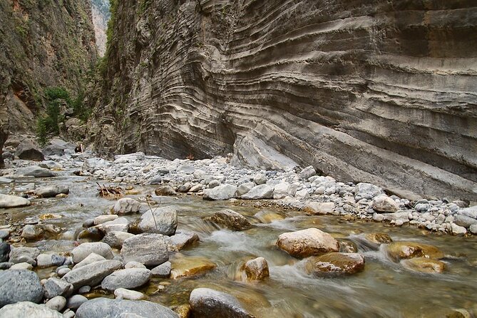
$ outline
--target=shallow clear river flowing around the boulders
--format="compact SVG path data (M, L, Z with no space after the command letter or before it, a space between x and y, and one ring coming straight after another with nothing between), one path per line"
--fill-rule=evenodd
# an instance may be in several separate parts
M30 242L42 251L71 251L78 229L84 220L108 213L113 201L98 198L93 180L71 176L67 171L55 180L16 180L14 185L2 185L1 193L21 190L26 183L37 186L66 184L68 198L39 199L31 207L5 210L11 222L23 222L44 213L61 215L46 220L63 228L56 240ZM9 189L10 188L10 189ZM136 188L140 195L153 193L152 186ZM156 200L158 198L155 198ZM178 210L178 230L197 232L200 243L171 256L204 257L214 262L215 270L200 277L185 279L152 279L143 289L148 299L166 306L185 304L196 287L211 287L238 297L257 317L446 317L451 309L476 310L477 238L437 235L416 227L389 227L376 222L349 222L337 216L307 216L299 211L258 209L234 205L232 202L209 202L195 196L160 198L162 205ZM230 208L245 215L255 224L250 230L232 232L217 230L202 220L217 210ZM274 215L270 223L262 223L257 212ZM135 220L138 215L126 216ZM311 277L303 270L303 262L275 247L282 232L317 227L337 240L354 242L364 255L364 272L344 277ZM443 274L419 274L406 270L386 257L382 248L363 243L361 233L385 232L393 240L424 242L440 248L445 254ZM83 241L81 241L83 242ZM263 282L244 282L239 273L242 262L265 257L270 266L270 278ZM47 276L51 270L42 270ZM112 297L107 295L107 297Z

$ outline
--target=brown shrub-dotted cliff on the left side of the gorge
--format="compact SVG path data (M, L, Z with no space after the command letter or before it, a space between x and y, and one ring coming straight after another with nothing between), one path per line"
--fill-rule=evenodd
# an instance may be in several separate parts
M1 131L34 131L43 88L81 89L96 47L89 0L2 0L0 21L1 151Z

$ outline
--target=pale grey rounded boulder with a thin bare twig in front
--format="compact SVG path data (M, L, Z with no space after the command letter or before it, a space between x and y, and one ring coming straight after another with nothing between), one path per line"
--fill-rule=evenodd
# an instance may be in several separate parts
M178 227L178 212L173 207L158 207L141 215L140 232L174 235Z

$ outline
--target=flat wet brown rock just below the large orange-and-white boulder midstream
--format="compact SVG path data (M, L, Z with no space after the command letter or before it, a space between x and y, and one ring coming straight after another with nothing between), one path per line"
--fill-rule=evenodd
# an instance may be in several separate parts
M307 259L308 274L355 274L364 270L364 257L357 253L328 253Z

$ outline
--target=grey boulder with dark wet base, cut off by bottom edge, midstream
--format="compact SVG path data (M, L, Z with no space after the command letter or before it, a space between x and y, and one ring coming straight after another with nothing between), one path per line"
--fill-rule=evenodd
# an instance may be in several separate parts
M209 288L196 288L190 293L190 307L193 317L252 318L252 314L242 307L237 298L225 292Z

